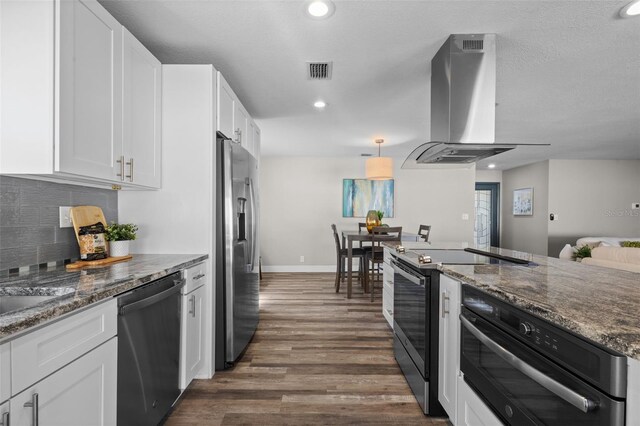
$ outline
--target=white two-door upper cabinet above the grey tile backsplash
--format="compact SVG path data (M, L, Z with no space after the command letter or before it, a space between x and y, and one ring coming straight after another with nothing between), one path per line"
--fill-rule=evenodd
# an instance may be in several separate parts
M161 69L144 46L96 0L2 1L0 28L0 173L160 186Z

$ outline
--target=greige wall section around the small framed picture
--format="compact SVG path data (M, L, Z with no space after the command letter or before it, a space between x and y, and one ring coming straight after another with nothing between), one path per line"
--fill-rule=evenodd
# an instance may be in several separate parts
M529 164L502 173L502 247L547 255L549 162ZM533 188L533 215L513 215L513 190Z

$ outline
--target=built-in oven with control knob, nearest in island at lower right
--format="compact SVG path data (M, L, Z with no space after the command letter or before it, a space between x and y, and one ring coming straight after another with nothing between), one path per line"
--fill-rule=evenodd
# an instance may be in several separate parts
M626 358L463 285L464 380L510 425L624 425Z

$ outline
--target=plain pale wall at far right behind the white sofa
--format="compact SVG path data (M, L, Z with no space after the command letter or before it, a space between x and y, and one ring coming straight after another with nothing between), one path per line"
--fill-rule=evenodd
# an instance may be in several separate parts
M640 237L640 160L550 160L549 255L580 237Z

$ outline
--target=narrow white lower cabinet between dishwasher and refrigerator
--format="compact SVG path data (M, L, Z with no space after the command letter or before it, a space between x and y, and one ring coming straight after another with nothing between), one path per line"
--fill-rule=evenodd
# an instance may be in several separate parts
M184 390L205 366L206 263L184 271L187 285L182 295L180 333L180 389Z

